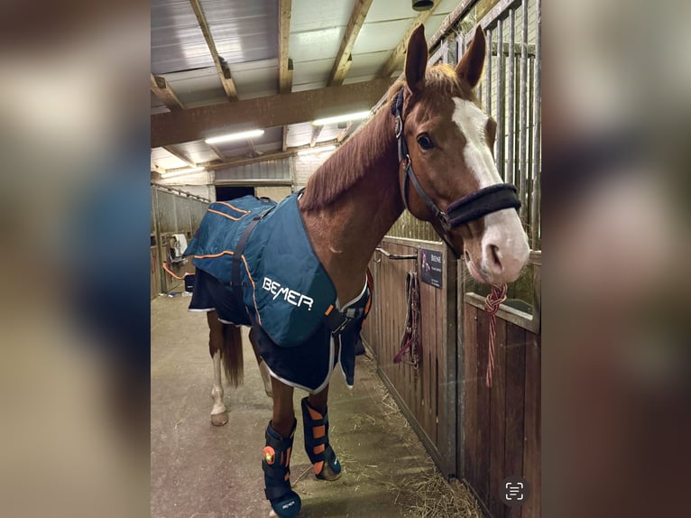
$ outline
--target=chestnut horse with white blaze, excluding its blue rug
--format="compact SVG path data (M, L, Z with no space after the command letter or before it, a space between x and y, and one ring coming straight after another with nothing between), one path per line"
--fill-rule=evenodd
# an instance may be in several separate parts
M516 211L515 188L502 183L494 164L497 125L474 94L485 47L478 27L456 69L428 69L427 43L419 26L408 43L405 81L392 86L387 105L309 179L298 200L299 214L336 288L337 301L362 296L374 249L404 208L429 221L478 282L512 282L527 263L529 246ZM238 327L220 322L210 308L207 318L216 373L212 421L218 425L227 421L221 359L231 383L239 383L242 345ZM269 358L260 356L267 346L259 334L261 328L254 327L250 340L273 397L263 452L265 494L274 513L290 517L299 513L301 504L290 487L297 426L292 396L300 385L274 374ZM334 480L341 467L328 441L328 375L325 386L302 401L302 413L315 474Z

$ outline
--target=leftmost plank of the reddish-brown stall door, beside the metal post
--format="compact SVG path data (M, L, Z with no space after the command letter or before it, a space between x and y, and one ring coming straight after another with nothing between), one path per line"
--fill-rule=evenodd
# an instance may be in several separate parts
M477 308L465 304L464 313L464 404L463 415L464 441L463 458L465 480L475 486L475 460L477 458Z

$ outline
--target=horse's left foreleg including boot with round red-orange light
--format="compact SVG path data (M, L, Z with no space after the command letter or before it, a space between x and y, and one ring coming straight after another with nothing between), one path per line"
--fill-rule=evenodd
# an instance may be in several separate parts
M295 411L292 405L293 388L272 377L273 419L266 427L266 446L263 450L264 493L272 510L281 518L299 513L299 495L290 488L290 453L295 436Z

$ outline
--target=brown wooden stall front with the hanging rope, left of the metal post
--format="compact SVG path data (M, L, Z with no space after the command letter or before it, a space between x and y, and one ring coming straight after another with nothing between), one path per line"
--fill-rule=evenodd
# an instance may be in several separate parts
M447 476L456 474L456 264L449 265L445 245L385 237L382 249L389 254L419 254L420 248L442 253L442 288L420 282L421 356L417 369L393 363L401 347L407 300L406 273L418 261L394 260L374 254L370 269L374 280L371 316L364 341L377 357L379 375L391 391L412 428ZM449 300L449 296L451 300ZM450 319L443 315L451 315ZM449 340L451 343L449 343Z

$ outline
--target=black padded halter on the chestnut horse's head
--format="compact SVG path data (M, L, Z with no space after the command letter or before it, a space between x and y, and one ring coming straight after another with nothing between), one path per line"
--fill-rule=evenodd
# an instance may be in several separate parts
M401 190L403 203L406 208L409 208L409 190L408 183L412 183L415 190L425 205L435 217L436 221L432 221L432 225L437 231L438 235L447 243L447 245L456 254L456 259L460 254L456 251L454 245L451 244L451 229L465 225L475 219L480 219L491 212L502 210L503 208L520 208L521 201L516 196L516 187L511 183L497 183L483 189L475 190L467 196L456 199L456 201L449 204L447 210L444 211L432 201L422 189L419 184L418 177L412 170L412 162L410 161L410 153L408 153L408 144L405 142L405 134L403 131L403 90L401 88L393 99L392 115L396 118L396 140L398 141L399 162L405 161L403 168L403 178L401 179ZM410 208L409 208L410 210ZM435 225L437 223L437 225Z

